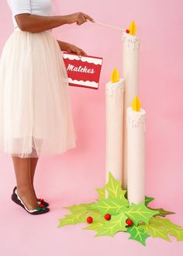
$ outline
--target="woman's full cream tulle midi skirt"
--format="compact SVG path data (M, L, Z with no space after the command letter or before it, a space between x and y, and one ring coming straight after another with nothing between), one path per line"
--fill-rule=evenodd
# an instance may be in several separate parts
M50 31L16 28L0 59L0 151L39 157L76 147L67 70Z

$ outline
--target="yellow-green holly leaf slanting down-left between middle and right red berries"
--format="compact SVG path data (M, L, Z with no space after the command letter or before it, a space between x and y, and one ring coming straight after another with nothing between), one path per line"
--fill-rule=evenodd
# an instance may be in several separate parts
M105 221L105 223L98 229L98 233L95 234L95 237L114 237L117 232L126 231L126 219L128 218L124 212L120 212L119 215L112 216L109 221Z

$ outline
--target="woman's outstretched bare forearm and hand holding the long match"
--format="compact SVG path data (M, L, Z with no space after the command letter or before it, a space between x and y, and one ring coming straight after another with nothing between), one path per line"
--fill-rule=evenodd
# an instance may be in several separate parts
M15 16L16 23L20 30L29 32L42 32L64 24L82 23L94 20L83 12L76 12L66 16L40 16L29 13L21 13Z

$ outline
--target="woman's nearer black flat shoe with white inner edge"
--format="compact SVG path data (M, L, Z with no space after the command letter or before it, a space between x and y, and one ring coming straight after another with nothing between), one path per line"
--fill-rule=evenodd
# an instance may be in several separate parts
M15 202L17 205L22 206L22 208L25 209L26 212L29 212L30 214L33 214L33 215L38 215L38 214L43 214L43 213L46 213L46 212L50 212L49 208L40 207L40 206L37 206L36 209L33 209L33 210L27 209L26 205L22 202L22 199L19 197L19 195L16 191L16 188L13 189L12 201Z

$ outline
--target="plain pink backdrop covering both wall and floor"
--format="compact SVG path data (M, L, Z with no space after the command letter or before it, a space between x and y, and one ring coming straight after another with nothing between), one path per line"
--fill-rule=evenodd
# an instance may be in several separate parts
M183 103L182 103L182 0L60 1L60 13L87 12L95 20L127 28L134 19L141 39L140 100L147 110L146 195L155 197L156 208L177 212L170 219L183 225ZM105 3L105 4L104 4ZM12 33L12 19L1 1L0 51ZM57 39L82 47L88 54L104 58L98 90L70 87L76 149L62 156L40 159L36 191L50 202L50 213L31 216L11 201L15 177L12 160L0 155L0 254L44 256L142 254L181 255L182 242L147 239L147 247L116 237L93 237L85 224L57 229L58 219L69 213L62 206L93 202L95 188L105 183L105 83L116 66L123 75L121 35L96 24L66 25L54 30Z

